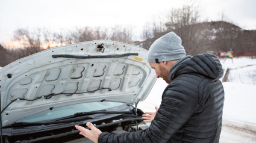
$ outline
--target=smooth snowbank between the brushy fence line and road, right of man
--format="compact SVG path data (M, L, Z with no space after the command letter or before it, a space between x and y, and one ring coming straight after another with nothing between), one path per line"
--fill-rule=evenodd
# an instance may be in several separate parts
M256 85L223 82L223 119L256 125Z

